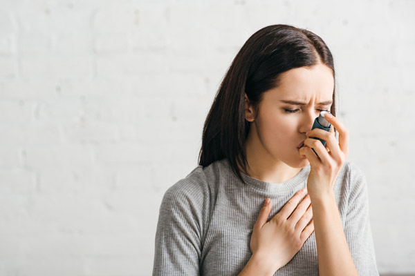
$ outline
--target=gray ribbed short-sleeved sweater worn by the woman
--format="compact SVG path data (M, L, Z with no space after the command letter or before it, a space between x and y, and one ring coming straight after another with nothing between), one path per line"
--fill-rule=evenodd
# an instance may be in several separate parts
M197 166L163 197L156 231L153 275L237 275L250 259L250 236L264 200L272 218L300 189L310 166L292 179L271 184L242 175L227 159ZM334 186L344 234L360 276L379 275L369 224L365 176L346 162ZM275 275L318 275L315 234Z

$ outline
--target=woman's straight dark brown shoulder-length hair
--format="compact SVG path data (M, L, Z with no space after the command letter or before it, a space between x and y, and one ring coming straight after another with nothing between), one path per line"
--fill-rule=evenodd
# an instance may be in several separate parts
M273 25L252 34L232 61L203 127L199 165L227 158L239 179L246 172L245 144L250 123L245 119L245 94L255 110L261 95L278 86L279 75L293 68L323 63L333 70L326 43L308 30ZM331 113L335 115L335 88Z

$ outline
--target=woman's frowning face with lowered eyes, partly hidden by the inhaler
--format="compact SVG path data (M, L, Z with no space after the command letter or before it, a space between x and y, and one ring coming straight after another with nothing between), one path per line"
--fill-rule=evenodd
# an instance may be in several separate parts
M279 86L264 92L258 115L252 121L248 142L254 139L255 151L270 160L293 168L308 165L299 148L320 111L330 111L334 79L323 64L284 72ZM252 109L251 109L252 110ZM252 133L251 133L252 132Z

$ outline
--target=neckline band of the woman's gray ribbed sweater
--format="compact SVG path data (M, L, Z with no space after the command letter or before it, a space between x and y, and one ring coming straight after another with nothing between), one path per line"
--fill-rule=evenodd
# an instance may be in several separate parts
M222 159L221 163L224 164L228 168L228 170L230 170L230 173L232 173L232 175L234 175L232 168L230 168L228 159ZM268 193L269 192L270 193L292 193L294 188L297 188L299 190L301 188L307 187L307 179L308 179L308 174L310 172L310 165L302 168L302 170L300 170L297 173L297 175L295 175L291 179L288 179L287 181L279 182L279 183L270 183L266 181L261 181L259 179L256 179L254 177L250 177L249 175L244 174L240 170L239 172L241 173L242 179L246 181L246 183L249 186L252 186L252 188L256 188L257 190L263 190ZM234 177L237 180L241 181L241 179L239 179L236 175L234 175Z

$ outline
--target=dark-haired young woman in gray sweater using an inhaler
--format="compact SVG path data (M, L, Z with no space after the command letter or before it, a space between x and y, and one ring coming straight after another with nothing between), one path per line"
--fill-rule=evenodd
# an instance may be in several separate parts
M331 131L311 130L323 110ZM255 32L214 99L199 166L163 197L153 275L378 275L365 176L334 115L324 41Z

